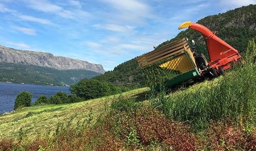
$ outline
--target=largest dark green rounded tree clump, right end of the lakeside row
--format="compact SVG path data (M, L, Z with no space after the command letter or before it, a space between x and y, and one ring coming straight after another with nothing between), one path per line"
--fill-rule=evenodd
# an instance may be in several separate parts
M122 92L121 88L95 79L82 79L70 87L70 92L83 99L94 99Z

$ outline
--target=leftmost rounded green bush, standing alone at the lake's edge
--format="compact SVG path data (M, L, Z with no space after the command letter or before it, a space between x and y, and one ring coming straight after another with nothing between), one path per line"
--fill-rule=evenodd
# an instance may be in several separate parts
M22 106L30 106L31 101L32 93L27 91L20 92L15 99L14 110Z

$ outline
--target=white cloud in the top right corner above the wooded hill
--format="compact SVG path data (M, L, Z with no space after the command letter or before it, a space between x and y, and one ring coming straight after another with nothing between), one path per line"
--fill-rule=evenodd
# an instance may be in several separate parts
M241 7L250 4L256 4L256 0L220 0L221 5L231 7Z

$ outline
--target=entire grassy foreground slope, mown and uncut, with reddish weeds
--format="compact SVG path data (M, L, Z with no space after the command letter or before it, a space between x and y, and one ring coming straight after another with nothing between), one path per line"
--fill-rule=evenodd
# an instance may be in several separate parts
M24 108L0 117L0 150L254 150L255 72L246 63L168 95Z

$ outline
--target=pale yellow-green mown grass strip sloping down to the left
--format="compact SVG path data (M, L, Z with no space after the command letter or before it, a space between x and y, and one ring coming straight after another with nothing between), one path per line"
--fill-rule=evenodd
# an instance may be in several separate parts
M134 89L121 95L132 97L148 90ZM25 107L13 114L0 116L0 138L17 139L20 133L25 133L30 139L45 136L48 131L53 131L59 122L69 121L71 116L76 116L76 121L84 119L89 112L93 117L99 116L104 111L105 103L111 103L119 95L72 104Z

